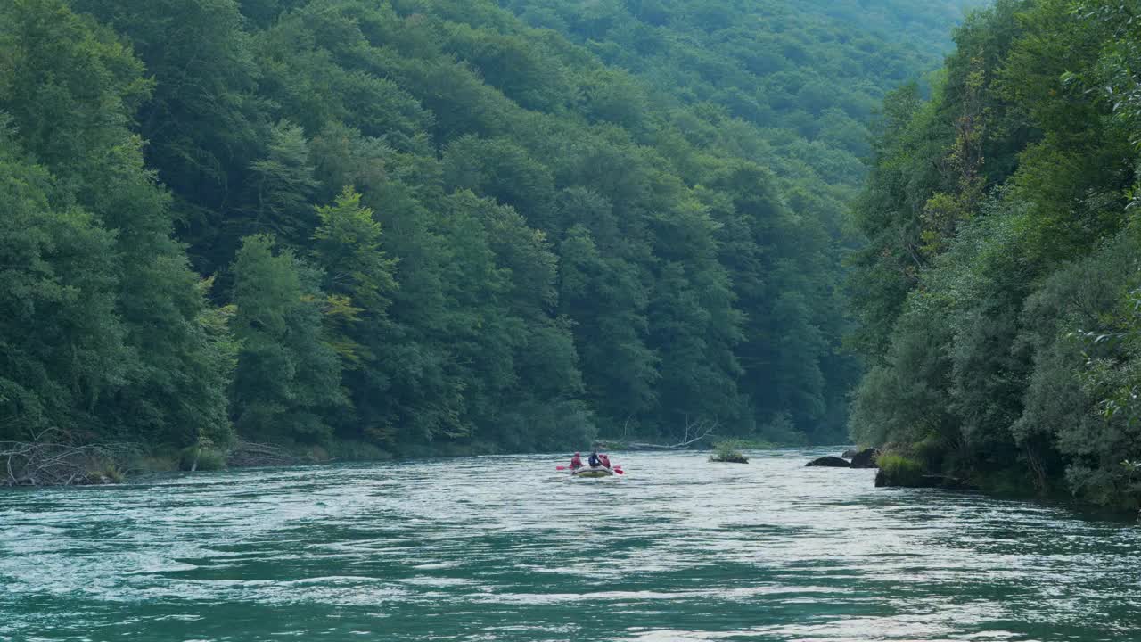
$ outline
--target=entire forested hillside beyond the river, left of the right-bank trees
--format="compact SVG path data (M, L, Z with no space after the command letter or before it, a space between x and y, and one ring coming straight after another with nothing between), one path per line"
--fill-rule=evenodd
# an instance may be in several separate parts
M0 439L839 439L860 121L957 6L873 5L662 2L638 43L489 0L5 2Z

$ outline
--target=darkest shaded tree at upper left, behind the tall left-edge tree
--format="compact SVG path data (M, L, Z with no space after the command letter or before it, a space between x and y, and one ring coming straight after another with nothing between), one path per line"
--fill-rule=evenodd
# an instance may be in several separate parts
M236 194L264 158L269 125L258 64L234 0L73 0L121 34L154 79L137 114L147 162L175 194L194 263L211 272L236 244L221 235ZM136 63L137 64L137 63Z

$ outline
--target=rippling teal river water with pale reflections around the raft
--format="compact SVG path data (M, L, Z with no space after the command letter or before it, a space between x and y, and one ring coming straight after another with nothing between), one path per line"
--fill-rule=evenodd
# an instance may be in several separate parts
M823 454L0 492L0 640L1141 640L1135 524L803 467Z

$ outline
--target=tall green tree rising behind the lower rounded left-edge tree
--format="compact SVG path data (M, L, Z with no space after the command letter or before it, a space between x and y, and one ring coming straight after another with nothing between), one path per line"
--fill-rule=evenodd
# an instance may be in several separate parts
M0 11L2 57L16 70L0 110L11 114L24 152L62 177L52 208L82 208L114 242L104 260L118 283L113 316L124 350L113 370L118 385L91 394L89 412L96 425L152 442L225 441L225 342L203 324L210 312L171 238L169 196L129 129L151 87L141 65L64 2L29 0Z

